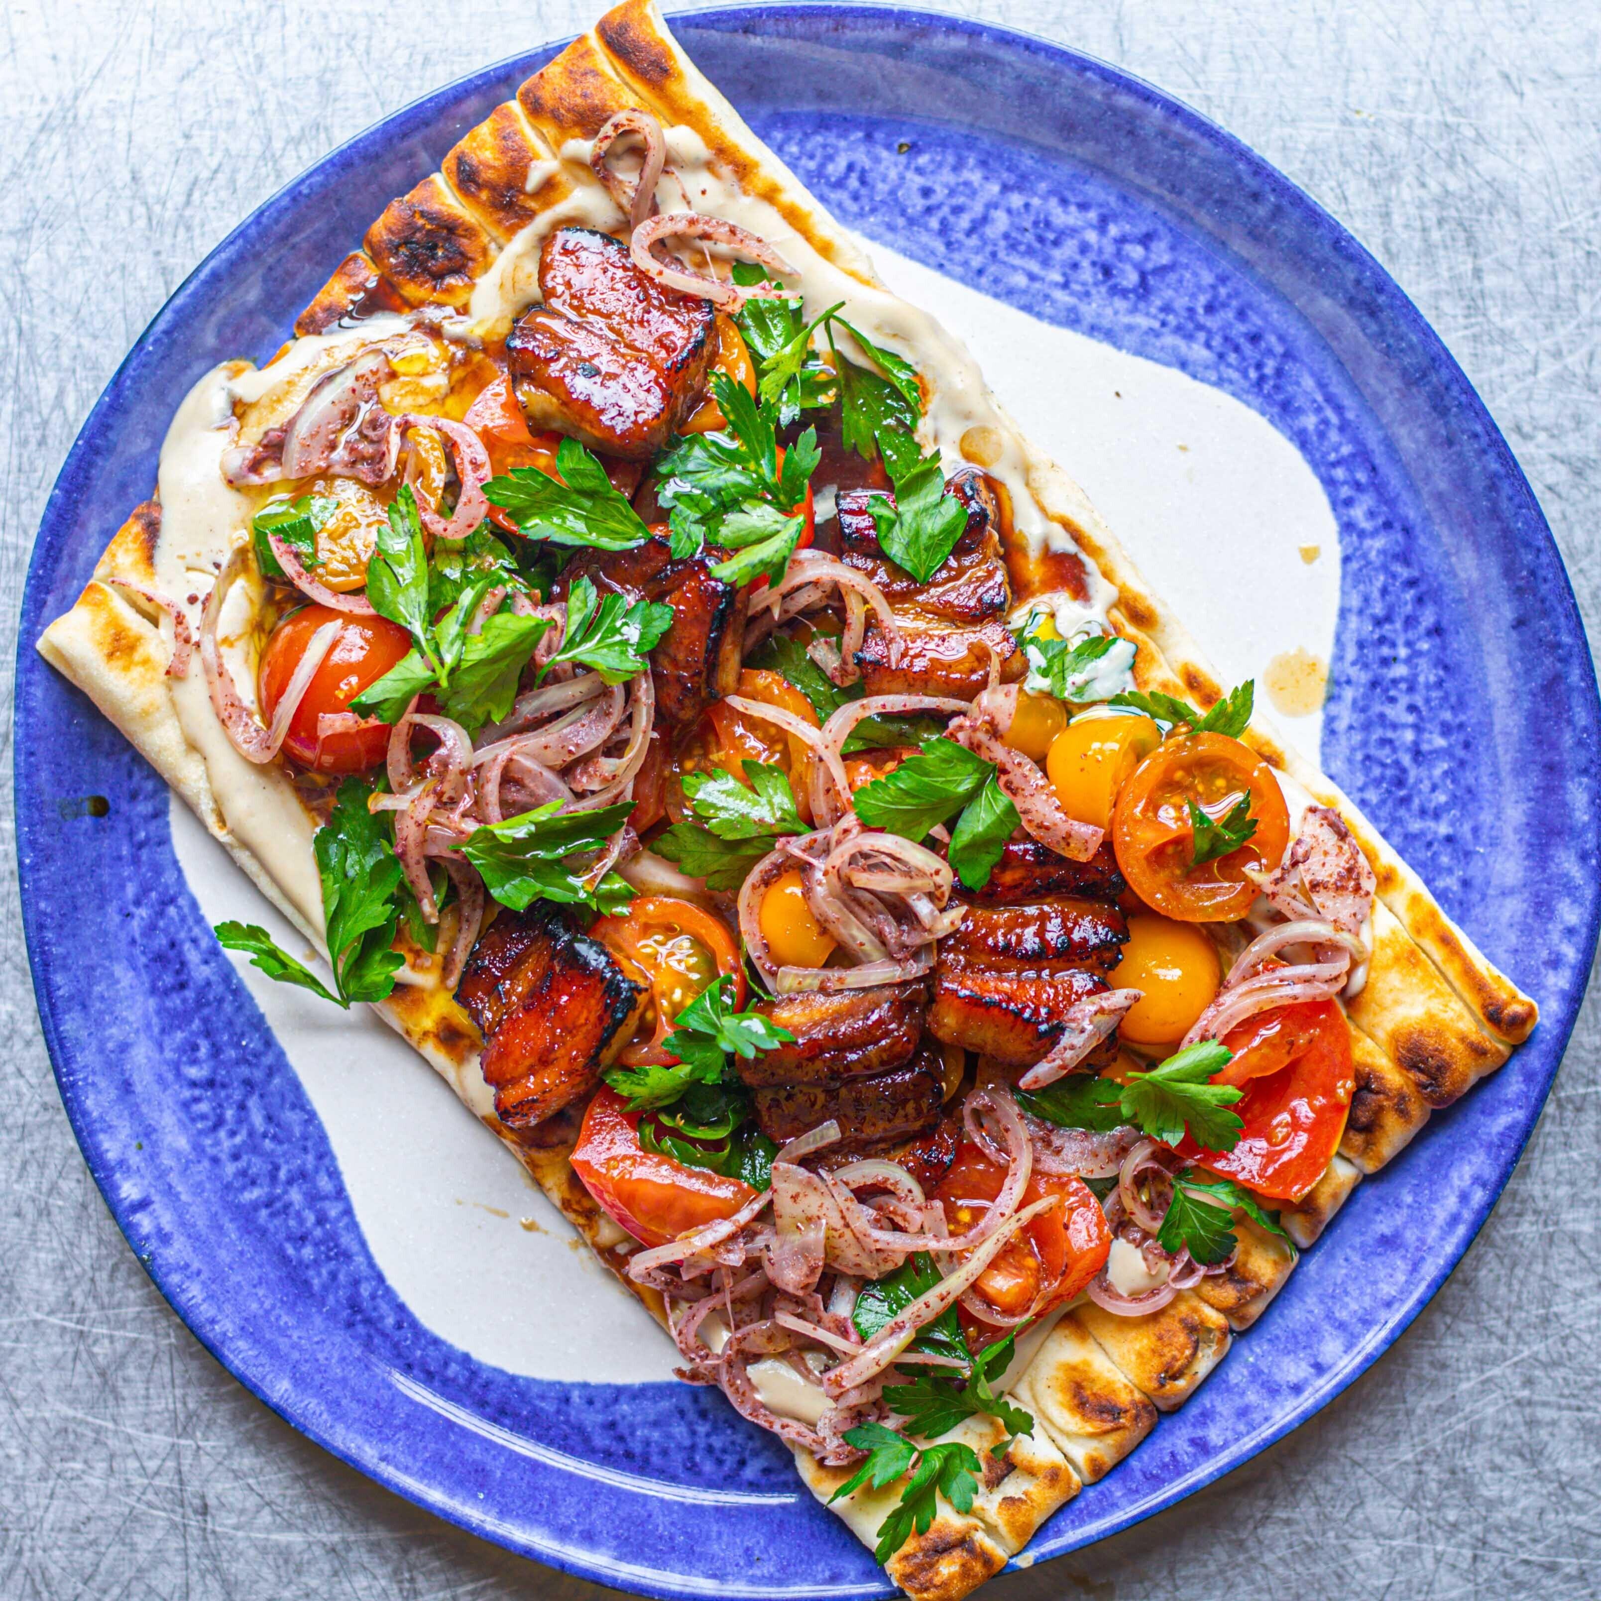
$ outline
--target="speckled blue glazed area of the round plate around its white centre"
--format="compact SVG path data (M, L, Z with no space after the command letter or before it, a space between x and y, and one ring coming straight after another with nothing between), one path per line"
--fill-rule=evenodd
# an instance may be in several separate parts
M1295 442L1343 557L1326 765L1543 1012L1507 1068L1359 1186L1196 1399L1041 1532L1039 1559L1294 1428L1406 1327L1484 1222L1595 946L1590 655L1534 496L1462 371L1356 240L1228 134L1101 62L951 18L807 5L674 27L845 223L1215 384ZM520 1378L418 1322L176 868L163 784L34 653L149 493L192 379L224 355L264 359L354 224L556 50L431 94L267 202L173 296L85 424L22 607L16 812L38 1005L72 1126L139 1260L304 1433L477 1534L610 1585L884 1595L788 1452L720 1396Z

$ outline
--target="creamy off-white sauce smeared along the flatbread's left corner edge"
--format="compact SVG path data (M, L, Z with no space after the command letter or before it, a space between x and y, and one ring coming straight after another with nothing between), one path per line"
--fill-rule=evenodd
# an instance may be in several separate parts
M213 368L189 391L162 445L162 535L155 544L157 588L181 605L191 594L203 605L218 568L235 544L250 536L250 501L223 479L223 451L232 443L232 384L239 363ZM235 586L224 608L234 623L245 604L247 584ZM237 597L237 605L235 605ZM199 626L199 607L187 607ZM168 624L170 628L171 624ZM227 628L219 629L219 637ZM243 669L243 671L242 671ZM240 693L255 695L255 672L231 656ZM299 914L303 932L322 946L322 885L312 857L312 820L283 773L247 762L234 749L211 706L197 650L183 679L168 679L173 709L184 738L200 752L224 826L271 874Z

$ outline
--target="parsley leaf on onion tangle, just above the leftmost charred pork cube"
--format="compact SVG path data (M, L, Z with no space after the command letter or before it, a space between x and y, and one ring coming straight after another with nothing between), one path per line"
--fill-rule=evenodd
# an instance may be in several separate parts
M536 900L594 906L608 914L621 911L634 898L629 882L620 873L605 873L594 882L572 858L600 850L628 821L632 802L594 812L560 809L560 800L548 800L503 823L485 823L466 837L461 853L484 876L490 895L512 911L527 911Z

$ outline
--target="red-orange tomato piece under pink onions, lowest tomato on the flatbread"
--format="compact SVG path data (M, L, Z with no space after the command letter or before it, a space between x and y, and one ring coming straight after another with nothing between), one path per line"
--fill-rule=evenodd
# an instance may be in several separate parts
M977 1145L964 1142L933 1191L933 1198L945 1207L951 1233L970 1230L1001 1194L1004 1182L1005 1169ZM1106 1214L1082 1178L1031 1174L1021 1204L1029 1206L1045 1194L1061 1196L1061 1204L1042 1212L1002 1246L973 1284L996 1311L1010 1318L1026 1311L1036 1298L1041 1302L1039 1311L1071 1300L1100 1273L1111 1250ZM980 1343L993 1343L1004 1332L972 1318L965 1308L961 1318Z

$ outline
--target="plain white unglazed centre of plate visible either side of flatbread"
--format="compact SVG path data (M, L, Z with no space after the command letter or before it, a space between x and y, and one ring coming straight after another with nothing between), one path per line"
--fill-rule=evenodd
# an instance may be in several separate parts
M1183 373L869 248L897 291L978 354L1001 400L1084 485L1226 684L1255 677L1260 687L1294 652L1329 661L1337 533L1289 440ZM1303 560L1302 548L1316 559ZM1318 725L1316 714L1281 722L1313 760ZM307 954L176 797L171 826L210 922L259 922ZM666 1335L397 1034L234 961L322 1119L373 1258L423 1324L484 1362L540 1378L672 1377Z

